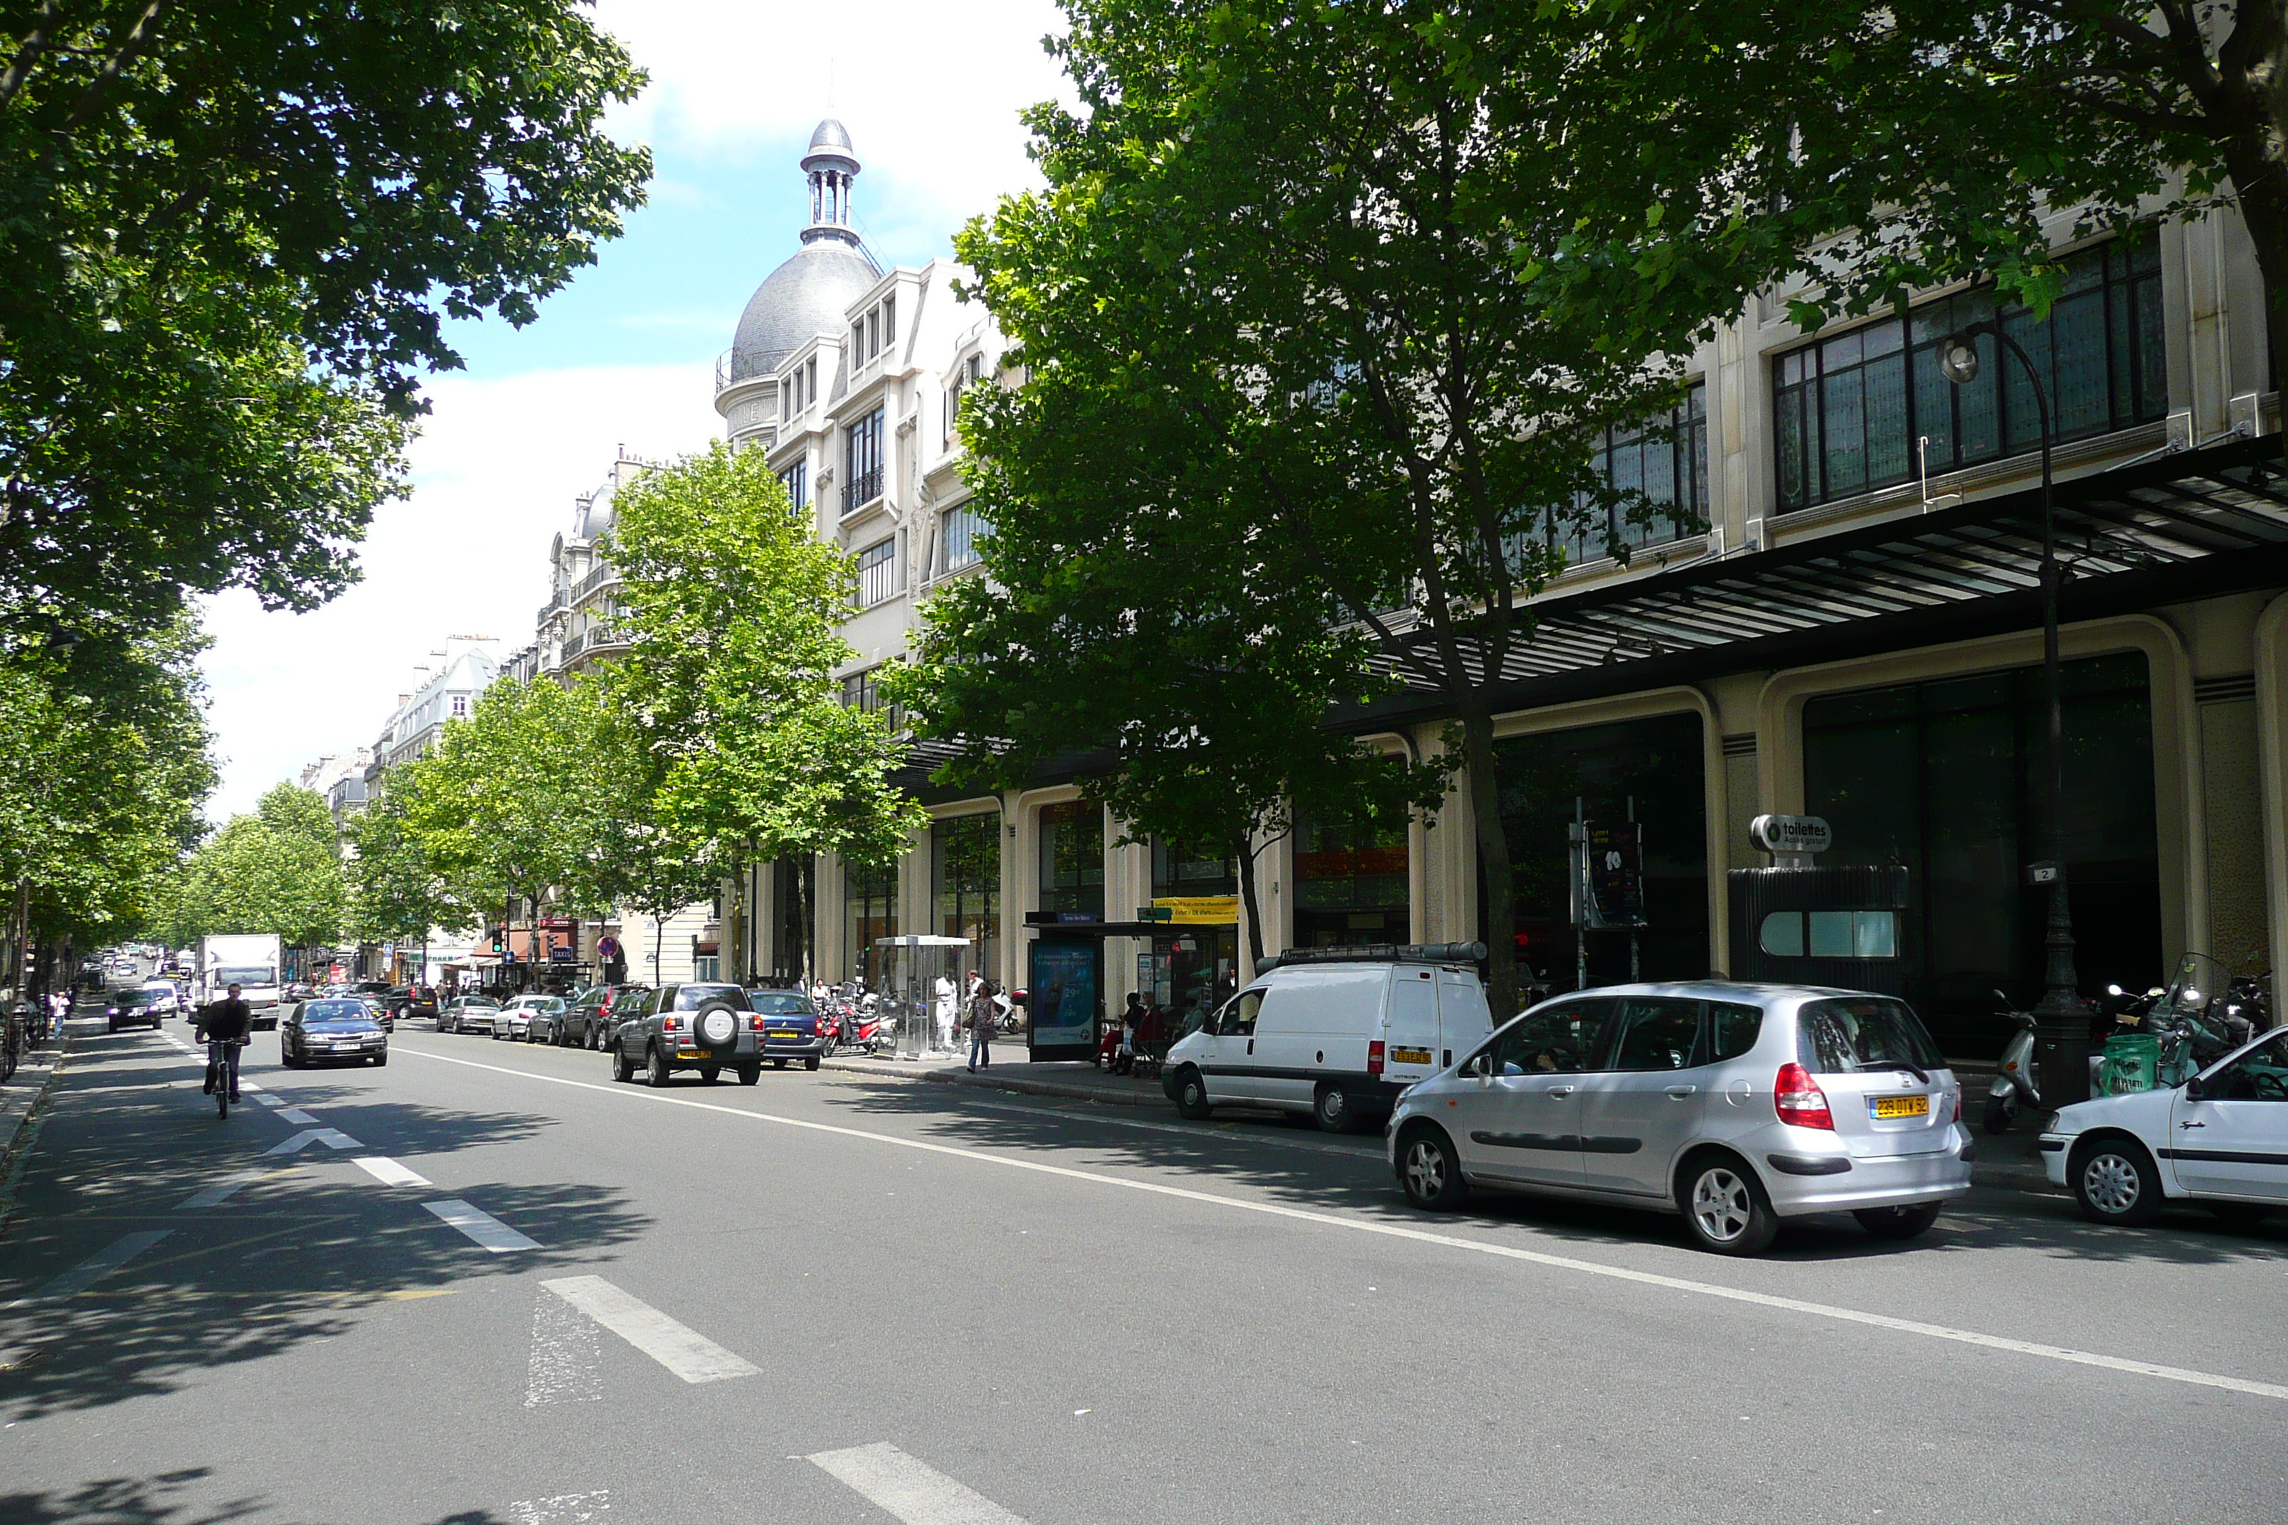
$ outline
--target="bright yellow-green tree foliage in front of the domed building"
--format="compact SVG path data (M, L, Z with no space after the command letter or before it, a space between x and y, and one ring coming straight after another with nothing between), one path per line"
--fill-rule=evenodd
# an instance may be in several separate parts
M924 821L890 777L904 743L833 679L853 656L849 558L819 544L764 453L716 441L613 510L631 645L606 681L629 745L657 761L659 823L723 871L901 853Z

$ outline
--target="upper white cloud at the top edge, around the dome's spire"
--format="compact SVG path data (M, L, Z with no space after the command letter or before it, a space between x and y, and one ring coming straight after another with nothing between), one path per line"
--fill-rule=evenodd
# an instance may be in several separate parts
M943 247L995 197L1041 183L1018 112L1071 98L1041 39L1048 0L602 0L597 21L652 73L615 130L712 158L796 151L837 117L865 165L856 219L888 249Z

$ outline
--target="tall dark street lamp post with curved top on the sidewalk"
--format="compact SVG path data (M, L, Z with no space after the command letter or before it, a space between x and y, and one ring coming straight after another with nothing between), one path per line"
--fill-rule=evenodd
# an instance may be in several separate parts
M2066 901L2066 720L2061 704L2061 661L2057 654L2057 512L2050 501L2050 393L2041 384L2025 348L2011 338L2002 322L1988 318L1956 329L1938 348L1938 368L1956 386L1968 386L1979 375L1979 334L1991 334L1997 345L2016 357L2034 389L2034 412L2041 421L2041 688L2048 711L2048 759L2043 768L2043 805L2048 809L2050 862L2036 867L2036 878L2048 873L2050 915L2043 931L2043 992L2034 1006L2034 1052L2041 1097L2050 1107L2066 1107L2089 1097L2089 1006L2078 990L2073 969L2073 908Z

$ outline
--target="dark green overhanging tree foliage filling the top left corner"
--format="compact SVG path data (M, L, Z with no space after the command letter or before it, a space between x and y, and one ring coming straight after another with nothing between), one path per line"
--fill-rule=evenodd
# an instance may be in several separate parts
M533 304L650 174L574 0L0 0L0 617L309 608L444 318Z

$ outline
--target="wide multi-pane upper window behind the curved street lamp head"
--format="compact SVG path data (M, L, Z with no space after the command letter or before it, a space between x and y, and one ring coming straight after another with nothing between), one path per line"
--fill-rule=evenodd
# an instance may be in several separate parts
M2057 439L2089 439L2169 412L2160 254L2110 242L2064 261L2066 288L2048 318L2002 309L2050 393ZM1782 510L1906 482L1924 457L1954 471L2041 448L2025 370L1979 338L1979 377L1938 370L1947 334L1993 318L1993 293L1940 297L1773 361L1773 450ZM1929 441L1929 444L1924 444Z

